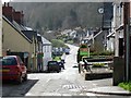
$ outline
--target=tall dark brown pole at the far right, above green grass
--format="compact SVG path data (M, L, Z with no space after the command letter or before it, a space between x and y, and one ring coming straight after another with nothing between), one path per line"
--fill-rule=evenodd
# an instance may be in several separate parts
M124 81L130 78L130 1L123 4Z

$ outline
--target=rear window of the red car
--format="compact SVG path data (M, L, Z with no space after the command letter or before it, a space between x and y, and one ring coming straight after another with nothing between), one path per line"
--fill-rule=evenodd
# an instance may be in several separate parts
M3 57L0 59L0 65L16 65L16 59L13 57Z

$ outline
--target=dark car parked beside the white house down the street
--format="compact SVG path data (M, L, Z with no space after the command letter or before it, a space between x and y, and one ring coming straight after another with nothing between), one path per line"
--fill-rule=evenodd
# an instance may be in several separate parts
M47 68L48 72L56 71L57 73L59 73L61 71L61 66L57 61L49 61Z

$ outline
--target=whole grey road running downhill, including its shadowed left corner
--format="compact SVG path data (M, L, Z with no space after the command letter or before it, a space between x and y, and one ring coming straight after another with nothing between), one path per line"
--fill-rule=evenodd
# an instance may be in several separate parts
M60 73L31 73L28 81L21 85L4 83L2 95L12 97L25 96L98 96L87 93L87 89L109 86L111 78L99 81L84 81L79 74L76 65L78 47L71 46L70 54L66 58L66 70ZM102 95L100 95L102 96ZM95 97L96 98L96 97Z

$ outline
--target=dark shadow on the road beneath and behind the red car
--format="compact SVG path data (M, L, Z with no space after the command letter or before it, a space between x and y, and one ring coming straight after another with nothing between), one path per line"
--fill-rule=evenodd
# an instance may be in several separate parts
M2 97L24 97L37 82L38 79L27 79L22 84L12 81L2 82Z

